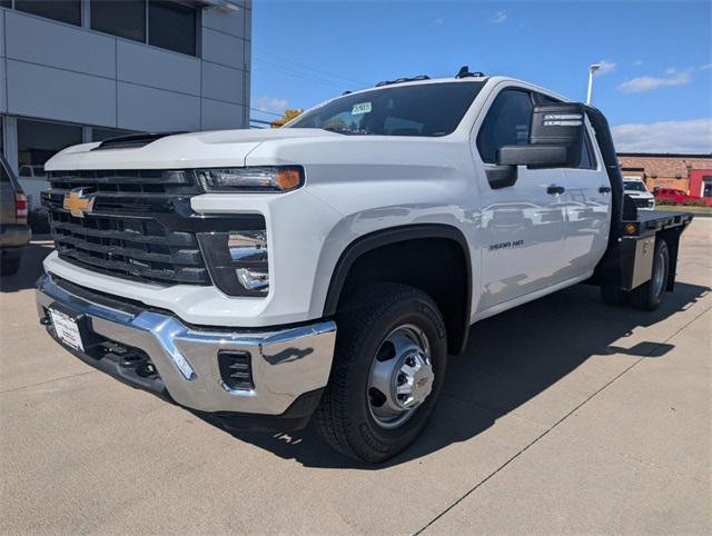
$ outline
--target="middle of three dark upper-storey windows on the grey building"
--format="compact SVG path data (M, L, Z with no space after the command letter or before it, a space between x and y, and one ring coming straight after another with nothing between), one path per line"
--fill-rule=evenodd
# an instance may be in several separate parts
M91 0L91 29L146 42L146 0Z

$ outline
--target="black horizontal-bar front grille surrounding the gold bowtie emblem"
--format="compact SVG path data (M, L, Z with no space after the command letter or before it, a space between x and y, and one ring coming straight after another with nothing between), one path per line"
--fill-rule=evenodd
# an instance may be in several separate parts
M55 245L68 262L111 276L174 285L210 285L190 229L189 171L55 171L43 196ZM96 195L91 214L63 208L70 190Z

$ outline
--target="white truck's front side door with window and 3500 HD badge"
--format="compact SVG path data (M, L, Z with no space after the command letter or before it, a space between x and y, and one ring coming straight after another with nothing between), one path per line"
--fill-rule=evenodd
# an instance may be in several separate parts
M506 187L493 187L487 177L502 146L528 142L533 107L531 91L506 87L475 128L473 157L482 200L476 230L482 251L481 311L563 280L564 208L553 191L563 179L562 169L518 166L516 182Z

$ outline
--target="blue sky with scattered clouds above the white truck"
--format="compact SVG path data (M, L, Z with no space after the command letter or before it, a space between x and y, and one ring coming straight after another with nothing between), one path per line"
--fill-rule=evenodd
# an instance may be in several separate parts
M712 152L709 0L255 0L251 119L464 64L583 101L591 63L619 151Z

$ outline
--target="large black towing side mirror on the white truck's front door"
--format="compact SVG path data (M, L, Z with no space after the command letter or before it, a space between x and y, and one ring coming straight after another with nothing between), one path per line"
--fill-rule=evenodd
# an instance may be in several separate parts
M527 145L504 146L500 166L576 168L583 149L585 109L580 102L535 106Z

